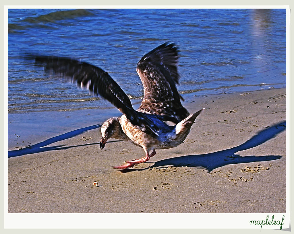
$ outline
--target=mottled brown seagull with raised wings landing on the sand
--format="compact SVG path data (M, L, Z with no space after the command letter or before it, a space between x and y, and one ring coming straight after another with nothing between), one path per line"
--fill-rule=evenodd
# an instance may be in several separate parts
M34 58L35 64L42 64L46 71L55 76L87 88L91 95L108 100L123 114L102 124L100 148L105 147L109 138L115 138L142 147L145 156L125 161L121 166L113 166L114 169L133 167L148 161L156 154L156 149L169 149L182 144L196 117L204 110L190 115L181 104L183 98L176 88L179 56L174 43L163 43L146 53L137 63L136 71L144 88L143 100L137 110L111 76L95 65L56 56L28 57Z

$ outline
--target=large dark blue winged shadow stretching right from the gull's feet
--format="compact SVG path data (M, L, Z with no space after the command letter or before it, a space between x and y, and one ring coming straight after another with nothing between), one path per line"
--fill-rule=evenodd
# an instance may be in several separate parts
M130 171L141 171L158 166L193 166L201 167L207 169L208 172L212 171L221 166L228 164L239 164L239 163L248 163L248 162L261 162L261 161L271 161L280 159L280 155L265 155L265 156L240 156L235 154L238 151L251 149L256 147L269 139L275 137L278 133L283 132L286 129L286 121L280 122L273 126L268 126L264 130L258 132L255 136L251 137L245 143L233 147L231 149L225 149L208 154L193 154L180 157L174 157L169 159L163 159L154 163L154 165L144 168L144 169L124 169L120 170L121 172L130 172Z

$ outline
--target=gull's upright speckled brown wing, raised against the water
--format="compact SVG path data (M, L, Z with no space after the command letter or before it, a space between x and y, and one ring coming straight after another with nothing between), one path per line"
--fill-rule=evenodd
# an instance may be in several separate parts
M178 93L178 50L173 43L164 43L144 55L137 64L137 73L144 87L143 101L138 111L159 115L175 123L189 113L182 106Z

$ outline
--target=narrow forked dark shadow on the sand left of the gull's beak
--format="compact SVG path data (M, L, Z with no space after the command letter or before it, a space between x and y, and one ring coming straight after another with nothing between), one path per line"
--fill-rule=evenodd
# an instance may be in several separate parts
M57 145L57 146L51 146L51 147L44 147L47 145L50 145L55 142L59 142L65 139L69 139L71 137L75 137L79 134L82 134L83 132L86 132L88 130L96 129L98 127L101 127L101 124L95 124L89 127L84 127L84 128L79 128L71 132L67 132L64 134L61 134L56 137L52 137L47 139L46 141L31 145L29 147L23 148L23 149L18 149L18 150L10 150L8 151L8 157L16 157L16 156L21 156L25 154L35 154L35 153L40 153L44 151L50 151L50 150L58 150L58 149L69 149L72 147L77 147L77 146L87 146L87 145L94 145L94 144L99 144L99 143L90 143L90 144L83 144L83 145L74 145L74 146L66 146L65 145Z

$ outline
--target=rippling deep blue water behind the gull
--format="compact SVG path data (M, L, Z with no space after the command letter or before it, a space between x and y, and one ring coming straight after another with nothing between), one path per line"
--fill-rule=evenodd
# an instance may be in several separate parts
M180 50L184 95L286 86L285 9L8 9L10 129L24 113L112 107L44 74L24 53L97 65L137 102L143 87L136 64L166 41Z

